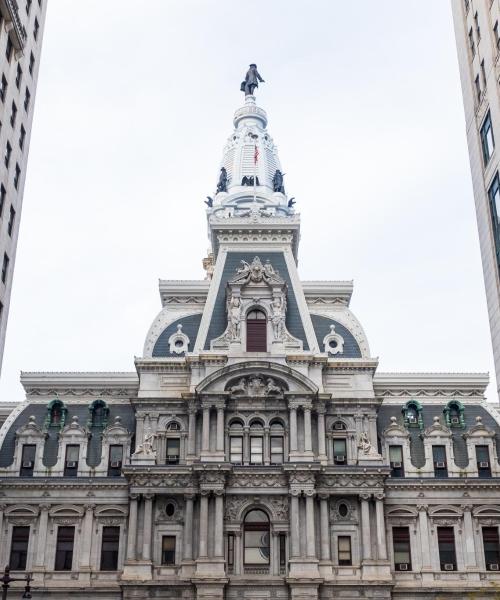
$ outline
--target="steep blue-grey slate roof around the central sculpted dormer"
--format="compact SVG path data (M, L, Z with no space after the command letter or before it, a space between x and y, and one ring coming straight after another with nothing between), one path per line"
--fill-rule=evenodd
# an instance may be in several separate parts
M286 266L285 256L283 252L228 252L226 256L226 262L224 264L224 271L222 273L222 279L219 290L217 292L217 298L215 300L215 306L212 313L212 319L210 321L210 327L208 329L207 339L205 340L205 350L210 350L210 342L221 336L227 327L227 315L226 315L226 284L232 279L241 266L242 260L251 263L252 260L258 256L264 264L266 260L269 260L276 271L279 271L280 276L286 281L288 292L287 292L287 311L286 311L286 327L288 331L299 340L302 340L304 344L304 350L309 350L309 344L307 343L304 326L299 313L299 307L297 299L292 287L292 281L290 274L288 273L288 267Z

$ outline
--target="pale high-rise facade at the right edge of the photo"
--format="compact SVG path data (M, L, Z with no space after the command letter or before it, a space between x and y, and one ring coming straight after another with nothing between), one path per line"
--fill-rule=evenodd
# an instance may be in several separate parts
M484 284L500 393L500 3L451 0Z

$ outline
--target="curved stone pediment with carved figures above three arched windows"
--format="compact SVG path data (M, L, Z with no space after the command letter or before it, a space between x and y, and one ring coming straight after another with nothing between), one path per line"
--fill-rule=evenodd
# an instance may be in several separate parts
M250 361L212 373L198 384L196 392L234 397L283 397L287 393L317 394L318 386L302 373L285 365Z

